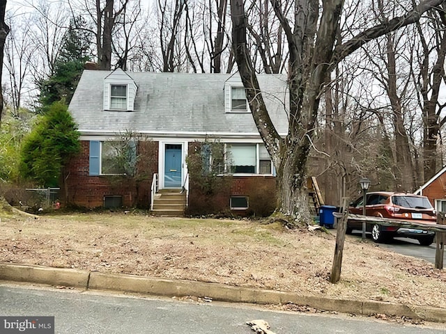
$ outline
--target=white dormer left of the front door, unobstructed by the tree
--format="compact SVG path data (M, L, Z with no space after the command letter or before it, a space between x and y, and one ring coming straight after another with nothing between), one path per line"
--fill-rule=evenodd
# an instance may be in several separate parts
M137 84L121 68L104 79L104 110L134 111Z

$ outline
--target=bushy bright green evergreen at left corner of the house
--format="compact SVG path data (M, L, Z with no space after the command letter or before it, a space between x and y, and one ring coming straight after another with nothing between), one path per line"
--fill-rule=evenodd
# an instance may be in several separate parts
M24 138L20 175L39 186L57 186L63 167L79 150L79 132L68 106L54 102Z

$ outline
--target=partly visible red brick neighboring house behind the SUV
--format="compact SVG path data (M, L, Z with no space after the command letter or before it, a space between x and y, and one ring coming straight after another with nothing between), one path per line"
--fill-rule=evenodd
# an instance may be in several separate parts
M446 166L415 193L429 198L437 212L446 212Z

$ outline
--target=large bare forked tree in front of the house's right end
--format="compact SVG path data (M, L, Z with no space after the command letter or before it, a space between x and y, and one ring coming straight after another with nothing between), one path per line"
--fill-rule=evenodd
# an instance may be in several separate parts
M307 205L307 161L314 138L321 95L327 82L327 72L346 56L370 40L417 22L421 15L443 0L426 0L407 13L361 29L353 38L339 41L337 31L344 1L325 0L319 8L316 0L295 1L294 28L284 15L282 1L270 0L286 34L289 47L289 133L279 136L266 109L247 49L247 22L243 0L231 0L233 49L247 100L261 138L277 168L279 188L278 208L292 214L298 221L309 221Z

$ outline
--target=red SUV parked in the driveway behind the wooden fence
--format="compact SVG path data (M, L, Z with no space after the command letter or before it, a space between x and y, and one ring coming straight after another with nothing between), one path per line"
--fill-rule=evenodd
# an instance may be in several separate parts
M416 220L421 223L436 223L436 212L426 196L413 193L392 193L376 191L367 193L366 216L395 218L399 220ZM348 211L351 214L362 214L363 198L357 198L350 204ZM349 219L346 233L352 230L362 230L362 221ZM375 242L386 241L392 237L408 237L417 239L422 246L433 243L435 232L415 228L398 228L367 223L366 230L371 232L371 239Z

